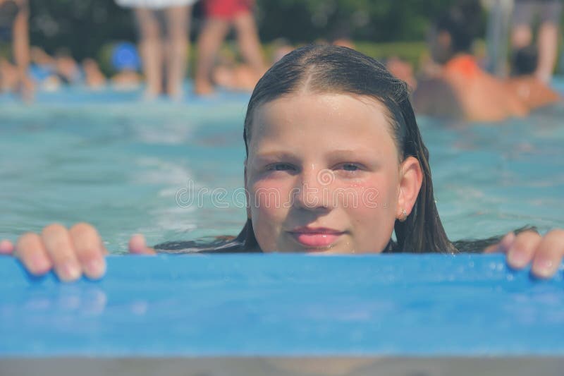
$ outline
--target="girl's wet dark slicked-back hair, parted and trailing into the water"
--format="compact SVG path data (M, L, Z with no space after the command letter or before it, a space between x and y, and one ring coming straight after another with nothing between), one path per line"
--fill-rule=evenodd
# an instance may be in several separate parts
M421 165L423 182L417 201L405 222L396 221L397 242L390 241L384 252L455 253L436 209L429 152L419 133L407 85L384 65L360 52L346 47L309 45L274 64L257 83L247 107L243 132L247 153L257 108L304 87L314 93L362 95L378 100L388 111L400 159L415 157ZM260 252L251 219L247 219L236 238L193 245L194 251L199 252ZM167 243L157 248L187 251L185 243Z

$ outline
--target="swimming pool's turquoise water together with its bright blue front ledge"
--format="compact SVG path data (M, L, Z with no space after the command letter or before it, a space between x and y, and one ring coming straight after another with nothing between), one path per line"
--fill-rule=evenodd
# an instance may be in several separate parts
M178 193L193 184L238 197L247 95L183 104L140 104L138 95L73 89L40 94L32 107L0 99L1 238L86 220L123 253L137 232L154 244L240 230L240 202L205 195L184 205ZM564 226L563 115L554 107L496 126L419 119L450 238ZM0 361L564 354L563 269L537 283L509 271L501 255L108 262L102 281L63 285L52 275L30 279L0 257Z

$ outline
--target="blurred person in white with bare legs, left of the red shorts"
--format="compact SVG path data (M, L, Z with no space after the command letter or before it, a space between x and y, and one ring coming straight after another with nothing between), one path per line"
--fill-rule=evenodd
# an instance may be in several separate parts
M183 96L190 42L189 23L192 4L196 1L116 0L120 6L135 8L143 72L147 80L146 99L154 99L161 94L171 99ZM161 38L163 33L166 35L164 39Z

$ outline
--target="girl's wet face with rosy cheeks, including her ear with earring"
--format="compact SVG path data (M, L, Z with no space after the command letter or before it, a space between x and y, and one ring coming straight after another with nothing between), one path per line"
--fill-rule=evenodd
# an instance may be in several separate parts
M370 97L304 91L259 106L245 186L263 252L384 250L422 181L417 159L399 158Z

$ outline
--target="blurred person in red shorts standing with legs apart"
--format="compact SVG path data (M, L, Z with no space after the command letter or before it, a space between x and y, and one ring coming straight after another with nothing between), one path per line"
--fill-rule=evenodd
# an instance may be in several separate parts
M266 71L259 42L253 0L203 0L206 21L198 39L198 56L194 91L197 95L214 92L212 73L216 55L231 27L237 33L240 54L245 61L245 73L240 75L239 89L252 90ZM216 75L217 76L217 75ZM240 82L244 80L244 82ZM241 85L243 84L243 85Z

